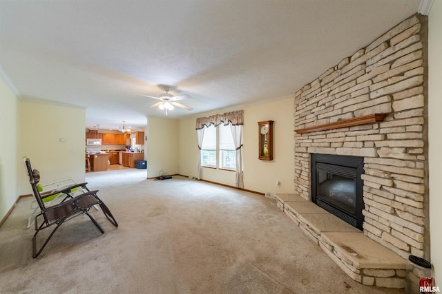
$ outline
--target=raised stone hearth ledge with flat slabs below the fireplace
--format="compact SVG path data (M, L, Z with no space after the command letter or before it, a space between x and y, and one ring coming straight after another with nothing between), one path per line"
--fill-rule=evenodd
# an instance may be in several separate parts
M363 232L295 194L273 194L276 205L353 280L404 288L409 264Z

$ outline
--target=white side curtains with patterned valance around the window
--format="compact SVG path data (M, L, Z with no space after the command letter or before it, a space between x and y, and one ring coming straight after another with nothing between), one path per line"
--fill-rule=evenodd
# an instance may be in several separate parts
M221 123L224 125L231 125L233 140L236 147L236 187L243 188L244 182L242 180L242 125L244 125L244 110L236 110L235 112L227 112L225 114L215 114L204 118L196 119L196 132L198 134L198 148L200 149L200 158L198 159L198 169L200 171L200 178L202 178L201 167L201 147L202 138L204 136L204 126L209 125L218 126ZM201 133L201 134L200 134Z

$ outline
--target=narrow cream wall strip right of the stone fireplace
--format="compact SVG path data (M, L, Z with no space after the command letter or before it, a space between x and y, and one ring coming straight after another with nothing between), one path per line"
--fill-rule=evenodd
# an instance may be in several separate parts
M428 117L430 173L430 244L436 285L442 287L442 1L434 1L428 17Z

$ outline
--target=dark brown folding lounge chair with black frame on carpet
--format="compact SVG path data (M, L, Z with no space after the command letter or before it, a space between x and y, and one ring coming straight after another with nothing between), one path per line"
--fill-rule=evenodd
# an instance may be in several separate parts
M79 216L80 214L86 214L95 224L95 226L104 233L102 227L99 226L97 221L90 216L88 211L95 204L98 204L99 207L102 208L104 216L113 224L115 227L118 227L117 221L113 217L111 211L109 211L108 207L102 200L100 200L97 196L98 190L89 191L86 187L87 183L80 183L71 185L69 187L64 187L61 190L55 191L54 193L49 193L45 195L41 195L39 189L37 188L38 182L40 180L39 171L37 169L32 169L30 165L29 158L25 160L26 170L28 172L29 182L32 187L32 192L39 204L40 213L35 216L35 234L32 238L32 258L37 258L40 255L41 251L43 251L46 244L48 244L52 235L54 235L55 231L67 220L72 219L74 216ZM84 189L84 193L80 193L79 195L72 195L73 190L77 191L76 188L81 187ZM45 202L43 202L44 198L51 197L55 194L63 194L65 197L63 200L55 205L47 206ZM41 224L39 224L39 220L41 219ZM41 230L47 229L55 224L55 229L52 230L49 237L46 239L44 244L41 246L39 251L37 252L37 235Z

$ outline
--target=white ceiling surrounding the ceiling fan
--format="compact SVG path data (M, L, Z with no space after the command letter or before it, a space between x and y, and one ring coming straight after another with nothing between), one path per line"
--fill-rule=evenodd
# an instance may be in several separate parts
M27 101L144 127L170 94L192 111L294 96L416 13L421 0L0 0L0 74ZM1 70L3 68L3 70Z

